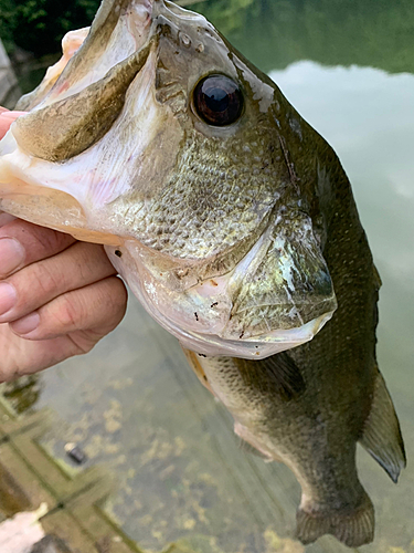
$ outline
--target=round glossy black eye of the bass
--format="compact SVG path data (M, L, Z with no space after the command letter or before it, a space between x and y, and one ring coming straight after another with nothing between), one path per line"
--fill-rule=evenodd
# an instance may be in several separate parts
M232 125L242 115L244 98L237 83L225 75L209 75L195 86L193 96L198 115L209 125Z

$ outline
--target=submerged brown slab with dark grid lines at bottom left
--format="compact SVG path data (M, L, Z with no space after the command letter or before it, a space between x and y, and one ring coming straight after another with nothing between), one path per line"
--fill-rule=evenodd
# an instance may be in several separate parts
M50 421L46 409L18 417L0 400L1 552L29 553L31 545L32 553L139 552L103 511L110 474L71 470L40 444Z

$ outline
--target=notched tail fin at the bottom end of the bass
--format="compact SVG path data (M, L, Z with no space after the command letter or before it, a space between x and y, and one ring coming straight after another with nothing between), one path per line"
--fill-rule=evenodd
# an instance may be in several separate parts
M374 538L374 508L364 493L357 509L315 510L306 512L298 509L296 535L304 545L315 542L323 534L332 534L348 547L359 547L372 542Z

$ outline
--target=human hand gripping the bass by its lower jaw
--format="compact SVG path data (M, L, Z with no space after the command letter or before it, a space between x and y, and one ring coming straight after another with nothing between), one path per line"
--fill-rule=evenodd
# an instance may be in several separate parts
M0 138L19 115L0 108ZM89 352L126 304L102 246L0 212L0 382Z

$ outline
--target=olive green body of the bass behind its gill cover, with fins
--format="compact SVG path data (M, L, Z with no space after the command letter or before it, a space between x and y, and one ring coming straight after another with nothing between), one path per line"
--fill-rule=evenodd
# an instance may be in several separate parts
M312 341L267 359L194 353L188 357L203 384L233 414L236 434L294 471L302 488L298 538L310 543L331 533L354 547L371 542L374 533L373 505L357 473L357 442L394 481L405 466L405 453L376 367L380 280L351 188L331 148L295 117L300 142L308 135L311 147L298 146L290 134L286 155L293 175L306 175L314 184L308 201L325 227L321 246L338 309Z

